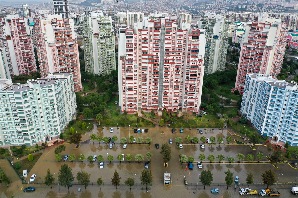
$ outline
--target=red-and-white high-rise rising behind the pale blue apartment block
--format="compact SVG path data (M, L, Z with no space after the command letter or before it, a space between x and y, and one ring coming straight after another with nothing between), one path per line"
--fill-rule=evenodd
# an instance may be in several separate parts
M255 17L247 22L242 41L235 90L243 93L247 73L280 73L287 44L285 22L280 19Z

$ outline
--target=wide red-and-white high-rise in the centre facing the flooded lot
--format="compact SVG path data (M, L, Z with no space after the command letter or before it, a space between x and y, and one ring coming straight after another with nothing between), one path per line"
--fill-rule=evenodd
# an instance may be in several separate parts
M148 24L147 26L143 26ZM119 28L119 104L128 113L199 110L205 30L165 18Z

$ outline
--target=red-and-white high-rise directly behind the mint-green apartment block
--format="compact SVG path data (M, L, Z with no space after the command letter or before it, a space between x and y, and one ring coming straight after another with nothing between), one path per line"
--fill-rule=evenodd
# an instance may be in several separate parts
M79 46L73 19L61 15L37 16L34 27L41 77L53 72L72 72L74 89L81 90Z

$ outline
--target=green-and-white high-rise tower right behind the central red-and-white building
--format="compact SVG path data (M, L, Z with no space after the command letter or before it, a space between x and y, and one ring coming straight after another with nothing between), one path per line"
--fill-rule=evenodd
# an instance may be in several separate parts
M198 28L206 29L204 72L211 74L216 71L224 71L229 39L229 23L226 18L221 15L202 15Z

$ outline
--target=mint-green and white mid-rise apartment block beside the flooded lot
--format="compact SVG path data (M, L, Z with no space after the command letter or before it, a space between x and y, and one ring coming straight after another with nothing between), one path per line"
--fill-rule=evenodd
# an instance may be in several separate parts
M0 145L33 146L59 136L77 108L72 73L13 84L0 79Z

